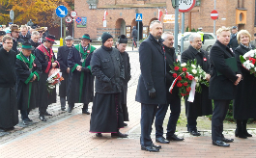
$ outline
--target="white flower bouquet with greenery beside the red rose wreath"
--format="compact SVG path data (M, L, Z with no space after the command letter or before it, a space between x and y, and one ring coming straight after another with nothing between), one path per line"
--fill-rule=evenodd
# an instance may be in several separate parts
M207 73L203 70L201 66L197 65L196 60L190 62L190 67L187 68L187 72L194 76L194 79L196 81L196 92L202 92L201 85L206 85L207 87L209 87L209 82L206 80Z

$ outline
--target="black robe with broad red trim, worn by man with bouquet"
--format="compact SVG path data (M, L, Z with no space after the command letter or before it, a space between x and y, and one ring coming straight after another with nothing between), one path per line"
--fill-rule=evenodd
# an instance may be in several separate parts
M42 75L40 79L40 100L39 100L39 108L40 113L43 115L46 112L46 109L49 104L56 103L56 88L52 89L51 92L47 91L47 78L49 74L49 70L52 68L52 63L57 63L55 68L59 67L59 63L55 58L55 55L52 49L47 50L43 44L41 44L36 50L35 55L39 62L42 65ZM41 110L42 109L42 110Z

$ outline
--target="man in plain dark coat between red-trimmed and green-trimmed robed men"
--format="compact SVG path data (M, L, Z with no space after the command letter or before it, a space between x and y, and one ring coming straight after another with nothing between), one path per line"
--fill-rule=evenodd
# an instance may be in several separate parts
M68 56L73 48L73 39L71 36L65 38L66 45L60 46L58 48L57 60L60 64L60 69L62 72L62 77L64 78L61 81L61 85L59 86L59 95L61 100L61 110L64 111L66 109L66 96L68 92L69 86L69 75L71 68L68 66Z

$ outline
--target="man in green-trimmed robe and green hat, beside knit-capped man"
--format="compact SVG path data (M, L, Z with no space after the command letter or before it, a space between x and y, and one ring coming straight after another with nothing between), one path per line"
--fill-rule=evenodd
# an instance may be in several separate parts
M83 103L82 113L90 115L88 104L94 97L94 76L91 74L91 57L95 47L88 34L80 38L81 43L71 49L68 56L68 66L71 67L70 87L68 90L68 112L71 113L74 103Z

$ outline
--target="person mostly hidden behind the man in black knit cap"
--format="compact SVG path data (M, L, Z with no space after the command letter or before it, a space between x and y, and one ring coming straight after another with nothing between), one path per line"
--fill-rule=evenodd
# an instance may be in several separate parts
M125 35L121 35L117 41L117 49L119 50L123 61L124 61L124 68L125 68L125 79L123 80L123 91L121 92L121 104L123 110L124 121L128 121L128 81L130 80L130 64L129 64L129 57L128 52L126 52L128 43L128 38ZM124 123L127 126L127 123Z

